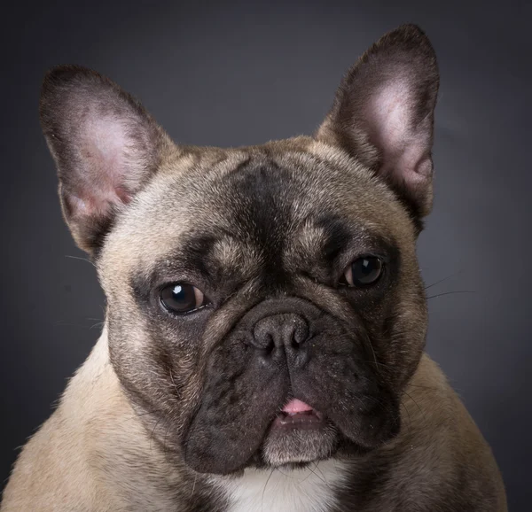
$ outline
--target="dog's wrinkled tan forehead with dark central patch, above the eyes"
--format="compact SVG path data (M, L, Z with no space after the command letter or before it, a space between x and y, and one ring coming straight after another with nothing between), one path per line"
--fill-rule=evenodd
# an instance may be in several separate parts
M113 268L165 258L186 266L208 254L278 268L287 253L313 258L348 241L371 246L402 237L394 226L408 219L393 195L349 164L312 151L234 151L176 162L121 217L102 259L120 255Z

